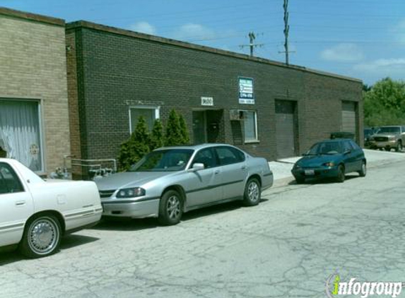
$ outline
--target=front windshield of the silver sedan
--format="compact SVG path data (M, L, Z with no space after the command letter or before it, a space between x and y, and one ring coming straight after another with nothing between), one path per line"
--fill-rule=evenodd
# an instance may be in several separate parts
M143 157L128 172L174 172L181 171L189 162L194 150L167 149L153 151Z

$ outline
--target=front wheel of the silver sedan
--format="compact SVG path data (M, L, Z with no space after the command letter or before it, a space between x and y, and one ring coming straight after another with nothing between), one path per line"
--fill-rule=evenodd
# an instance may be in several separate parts
M162 225L176 225L183 214L182 197L175 190L166 191L160 198L158 220Z

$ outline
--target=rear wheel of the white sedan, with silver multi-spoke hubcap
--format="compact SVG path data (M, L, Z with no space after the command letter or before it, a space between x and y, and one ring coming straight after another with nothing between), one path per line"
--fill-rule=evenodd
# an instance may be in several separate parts
M28 258L54 254L61 242L61 225L54 215L39 215L27 222L18 249Z

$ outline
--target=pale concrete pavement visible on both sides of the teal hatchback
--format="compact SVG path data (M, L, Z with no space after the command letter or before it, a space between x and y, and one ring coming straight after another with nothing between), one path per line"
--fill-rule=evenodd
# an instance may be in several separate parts
M405 160L405 153L395 153L387 151L378 151L363 149L365 159L367 160L368 167L377 167L378 165L385 165L392 162ZM274 162L269 162L271 171L274 173L274 186L284 186L290 181L294 180L291 174L291 169L297 160L301 157L288 157Z

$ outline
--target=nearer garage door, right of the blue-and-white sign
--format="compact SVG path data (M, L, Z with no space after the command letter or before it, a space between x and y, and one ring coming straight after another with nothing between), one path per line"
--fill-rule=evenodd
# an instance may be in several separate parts
M295 102L276 100L277 158L295 155Z

